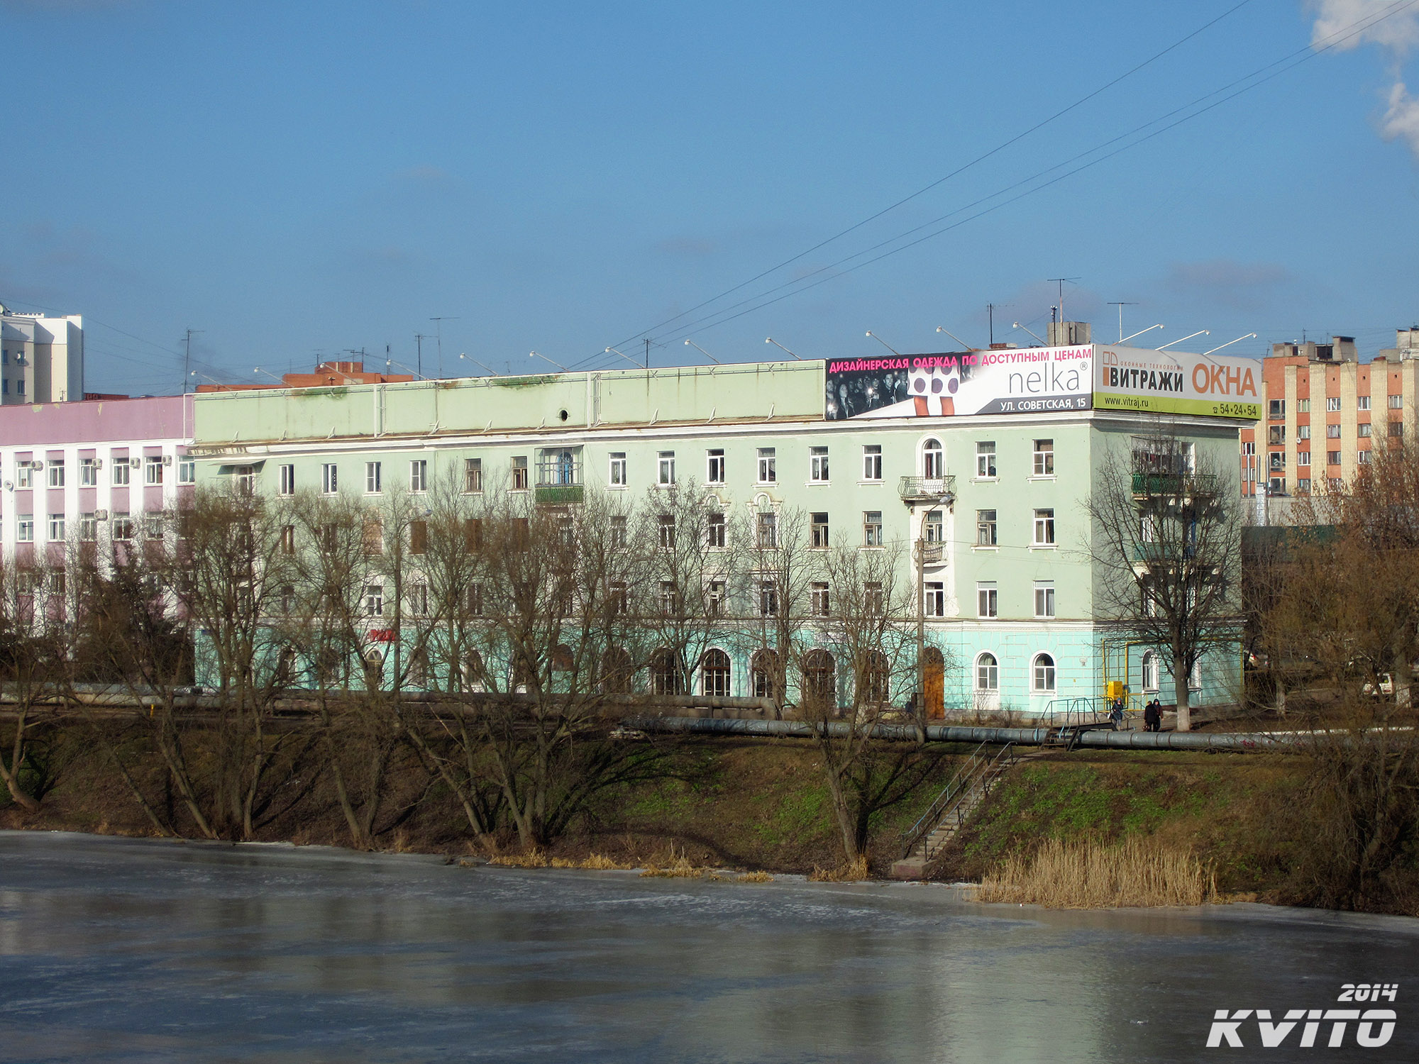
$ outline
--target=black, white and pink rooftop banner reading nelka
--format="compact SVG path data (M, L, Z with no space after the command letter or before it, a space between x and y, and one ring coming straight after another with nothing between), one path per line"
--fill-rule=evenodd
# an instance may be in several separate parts
M1093 345L829 359L824 414L952 417L1088 410Z

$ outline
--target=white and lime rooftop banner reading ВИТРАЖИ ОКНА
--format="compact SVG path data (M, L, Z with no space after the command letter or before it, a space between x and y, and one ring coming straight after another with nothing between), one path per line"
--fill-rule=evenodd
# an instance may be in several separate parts
M1261 363L1222 355L1186 355L1094 345L1094 407L1161 414L1206 414L1256 421Z

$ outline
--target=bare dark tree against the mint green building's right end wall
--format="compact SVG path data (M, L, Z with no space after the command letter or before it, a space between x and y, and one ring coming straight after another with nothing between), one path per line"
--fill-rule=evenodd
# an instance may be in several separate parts
M1090 516L1095 614L1155 645L1172 672L1178 731L1203 653L1242 634L1242 523L1229 474L1168 434L1132 437L1094 472Z

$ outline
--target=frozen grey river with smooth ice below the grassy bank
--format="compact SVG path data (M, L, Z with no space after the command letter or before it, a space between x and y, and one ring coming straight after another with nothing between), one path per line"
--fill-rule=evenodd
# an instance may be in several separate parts
M1412 1061L1416 975L1401 918L0 833L4 1061Z

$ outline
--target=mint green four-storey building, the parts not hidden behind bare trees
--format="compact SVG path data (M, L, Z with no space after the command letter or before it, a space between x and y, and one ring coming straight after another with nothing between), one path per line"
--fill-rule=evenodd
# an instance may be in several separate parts
M1020 355L1034 350L1061 349ZM193 453L199 482L241 477L271 495L420 491L477 468L575 505L694 477L729 506L799 508L863 549L924 541L904 565L920 566L927 641L952 663L939 681L948 711L1043 714L1110 680L1171 702L1158 658L1094 617L1083 506L1108 450L1156 433L1162 416L1094 409L1077 387L1027 399L1057 384L1027 366L999 370L1000 389L1026 399L968 413L988 375L962 380L928 360L939 362L873 365L861 380L843 370L866 363L802 360L206 393ZM1236 467L1237 421L1166 419L1210 465ZM1240 680L1237 645L1219 644L1192 680L1193 705L1236 701ZM729 694L752 694L746 661L732 663Z

